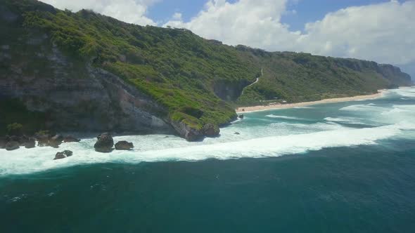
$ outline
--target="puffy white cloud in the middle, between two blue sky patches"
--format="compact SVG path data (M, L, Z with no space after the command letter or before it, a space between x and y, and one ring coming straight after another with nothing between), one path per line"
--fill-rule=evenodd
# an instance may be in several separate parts
M219 39L225 44L278 50L278 44L290 44L300 32L290 32L288 25L280 23L286 11L286 1L241 0L230 4L224 0L211 0L205 9L190 22L172 20L165 26L185 27L208 39ZM284 36L276 36L283 34ZM293 47L289 49L293 50Z

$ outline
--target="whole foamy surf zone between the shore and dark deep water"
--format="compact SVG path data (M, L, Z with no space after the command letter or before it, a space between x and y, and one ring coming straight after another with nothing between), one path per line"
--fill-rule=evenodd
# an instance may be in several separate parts
M388 138L415 138L415 105L402 101L402 96L413 95L415 89L396 90L382 101L339 107L340 111L325 106L314 106L307 114L283 116L283 110L274 113L246 113L242 121L221 129L219 138L203 142L186 142L173 135L125 135L115 141L134 143L131 151L113 151L101 154L94 151L96 138L84 138L79 143L65 143L60 148L20 148L6 152L0 150L0 175L13 175L47 171L82 164L129 163L143 161L200 161L204 159L236 159L243 157L279 157L327 147L375 145ZM396 94L396 95L395 95ZM393 98L391 103L385 101ZM411 98L411 97L405 97ZM399 102L404 102L400 105ZM386 103L385 103L386 102ZM392 104L393 103L393 104ZM338 104L345 106L344 104ZM293 110L286 110L293 114ZM309 111L309 112L308 112ZM325 115L330 112L330 116ZM273 121L269 118L279 119ZM264 119L268 119L264 121ZM286 120L286 121L284 121ZM368 128L350 128L347 124L367 124ZM307 124L305 124L307 123ZM365 127L365 126L362 126ZM56 152L70 149L72 157L53 160Z

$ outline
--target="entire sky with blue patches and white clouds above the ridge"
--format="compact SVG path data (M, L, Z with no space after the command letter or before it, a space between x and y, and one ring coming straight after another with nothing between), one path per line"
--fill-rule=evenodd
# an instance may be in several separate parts
M267 51L358 58L415 76L415 0L41 0Z

